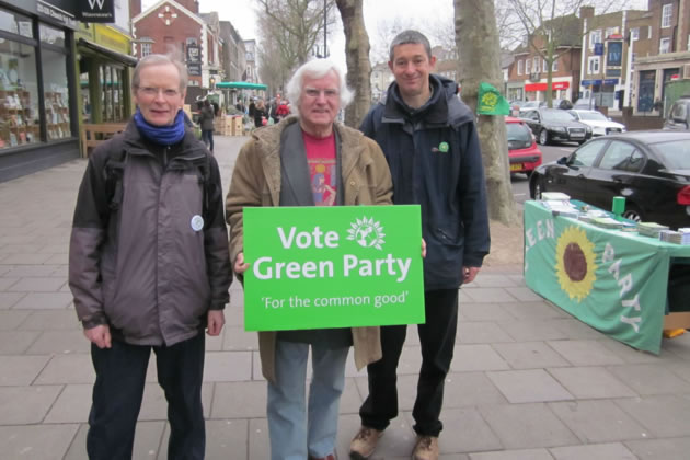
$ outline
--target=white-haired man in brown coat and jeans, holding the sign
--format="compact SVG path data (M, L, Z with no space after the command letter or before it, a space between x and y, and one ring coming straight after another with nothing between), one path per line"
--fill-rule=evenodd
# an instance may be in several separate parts
M361 133L334 123L340 107L353 97L343 72L329 60L312 60L296 71L287 89L297 116L255 130L240 151L230 183L226 209L238 277L249 268L243 255L245 207L391 204L381 149ZM314 182L329 187L312 188ZM262 372L268 381L272 460L335 459L352 345L357 368L379 359L379 327L258 333ZM307 403L310 348L313 372Z

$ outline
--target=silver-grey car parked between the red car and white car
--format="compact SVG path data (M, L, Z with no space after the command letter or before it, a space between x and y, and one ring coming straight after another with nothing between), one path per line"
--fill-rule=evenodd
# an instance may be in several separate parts
M567 111L537 108L524 112L520 117L529 125L542 146L551 142L584 143L591 138L591 128L577 122Z

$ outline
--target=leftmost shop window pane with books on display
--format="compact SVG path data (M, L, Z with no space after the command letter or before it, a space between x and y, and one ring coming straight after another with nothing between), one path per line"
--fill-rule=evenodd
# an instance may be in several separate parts
M35 48L3 39L0 43L0 149L41 140L37 81Z

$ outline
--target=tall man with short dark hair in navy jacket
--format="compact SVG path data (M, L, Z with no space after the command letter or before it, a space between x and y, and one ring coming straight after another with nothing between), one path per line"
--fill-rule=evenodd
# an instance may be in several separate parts
M417 441L413 459L438 458L444 381L450 368L458 322L458 288L471 283L488 253L486 187L471 111L457 84L432 74L436 58L416 31L400 33L388 62L395 81L360 129L375 139L393 179L393 203L422 206L425 324L419 324L422 369L414 404ZM369 395L359 410L361 428L350 445L366 459L398 416L396 367L405 325L381 327L383 358L367 367Z

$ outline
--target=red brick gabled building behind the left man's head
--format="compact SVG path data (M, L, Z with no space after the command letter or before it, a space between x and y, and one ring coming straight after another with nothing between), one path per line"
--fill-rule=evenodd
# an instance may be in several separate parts
M141 0L133 11L134 54L172 54L187 65L189 88L186 103L205 94L222 79L222 42L218 13L199 13L198 0L161 0L141 11Z

